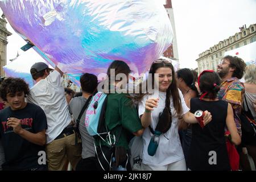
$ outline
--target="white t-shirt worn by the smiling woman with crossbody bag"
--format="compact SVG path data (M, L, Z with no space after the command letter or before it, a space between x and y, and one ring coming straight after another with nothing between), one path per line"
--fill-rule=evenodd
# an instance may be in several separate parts
M181 98L181 105L183 109L183 114L189 111L189 108L185 104L182 93L179 90L179 95ZM142 98L142 101L139 103L139 115L142 115L145 111L145 103L148 98L151 98L152 95L146 95ZM154 108L151 112L151 127L155 130L155 127L158 123L159 113L161 113L165 107L166 103L166 93L159 92L159 103L158 107ZM159 146L156 150L154 156L150 156L147 153L147 147L150 143L152 134L149 127L144 130L143 133L143 154L142 154L142 163L150 166L165 166L170 163L177 162L178 160L184 159L183 150L180 143L180 138L178 134L178 117L174 104L171 97L171 113L172 113L172 125L171 128L163 135L160 135ZM165 136L165 137L164 137ZM167 139L168 138L168 139Z

